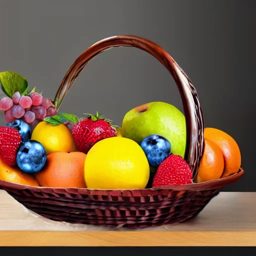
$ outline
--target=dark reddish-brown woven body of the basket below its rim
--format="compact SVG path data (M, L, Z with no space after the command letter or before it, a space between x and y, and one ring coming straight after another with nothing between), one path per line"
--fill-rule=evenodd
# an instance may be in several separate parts
M181 222L196 216L217 189L186 190L90 190L6 188L28 209L52 220L108 227L149 227Z

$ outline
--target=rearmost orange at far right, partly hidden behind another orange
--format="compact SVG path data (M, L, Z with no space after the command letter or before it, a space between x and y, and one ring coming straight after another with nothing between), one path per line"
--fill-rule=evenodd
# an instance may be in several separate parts
M226 132L210 127L204 129L204 138L215 142L222 151L224 171L221 177L236 173L241 165L241 153L236 141Z

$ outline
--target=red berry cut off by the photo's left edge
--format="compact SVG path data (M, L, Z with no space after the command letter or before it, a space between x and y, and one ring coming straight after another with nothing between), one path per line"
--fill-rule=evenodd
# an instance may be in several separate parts
M0 127L0 158L10 166L16 164L17 148L21 143L19 132L8 126Z

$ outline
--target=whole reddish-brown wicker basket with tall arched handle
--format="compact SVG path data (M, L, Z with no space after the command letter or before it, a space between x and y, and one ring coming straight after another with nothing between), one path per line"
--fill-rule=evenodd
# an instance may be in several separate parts
M121 35L91 45L65 74L54 98L57 110L88 61L100 52L116 46L137 47L150 53L174 78L186 118L187 141L184 158L195 177L204 147L204 123L198 95L184 71L165 50L152 41ZM195 217L218 194L221 187L235 182L242 175L243 169L240 168L237 173L228 177L202 183L131 190L33 187L0 180L0 189L6 190L28 209L52 220L115 228L142 228Z

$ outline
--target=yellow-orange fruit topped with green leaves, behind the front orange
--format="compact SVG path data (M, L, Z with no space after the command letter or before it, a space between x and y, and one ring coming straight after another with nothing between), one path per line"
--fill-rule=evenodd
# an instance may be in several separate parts
M45 121L39 122L34 127L31 139L40 142L46 154L77 151L71 131L62 123L52 125Z

